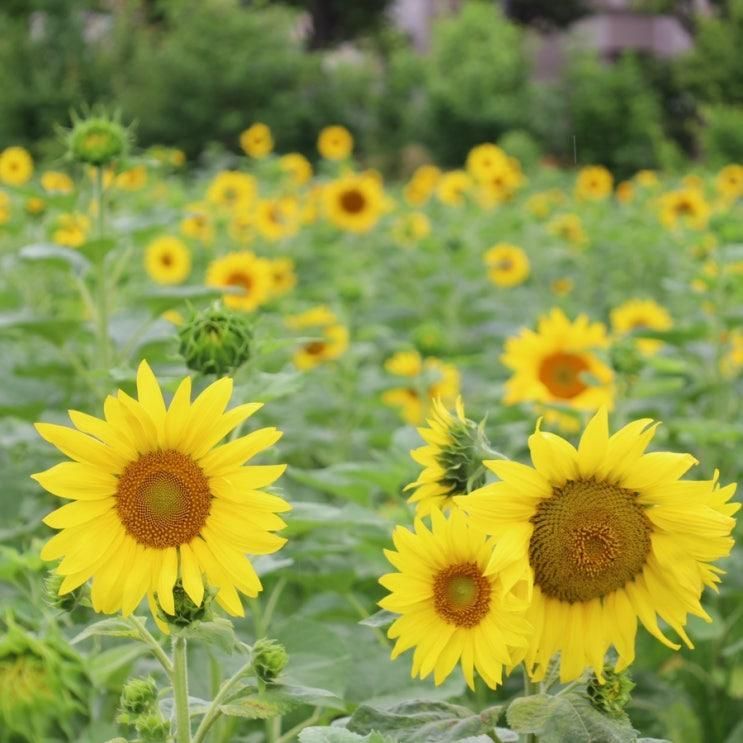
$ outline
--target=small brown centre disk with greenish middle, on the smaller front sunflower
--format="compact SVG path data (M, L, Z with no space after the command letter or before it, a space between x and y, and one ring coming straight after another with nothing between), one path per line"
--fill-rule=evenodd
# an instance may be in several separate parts
M488 613L490 591L490 581L474 562L451 565L434 578L434 606L449 624L476 627Z

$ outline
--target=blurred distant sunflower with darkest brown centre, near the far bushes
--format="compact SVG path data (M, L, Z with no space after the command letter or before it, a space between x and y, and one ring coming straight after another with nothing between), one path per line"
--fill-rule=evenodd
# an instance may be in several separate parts
M347 175L323 189L325 214L337 227L350 232L368 232L385 208L379 181L368 175Z

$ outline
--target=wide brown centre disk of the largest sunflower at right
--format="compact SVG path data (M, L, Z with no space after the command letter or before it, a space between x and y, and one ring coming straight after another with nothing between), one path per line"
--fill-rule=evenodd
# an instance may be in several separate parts
M542 593L568 603L624 586L650 552L650 522L637 493L596 480L554 488L531 519L529 562Z

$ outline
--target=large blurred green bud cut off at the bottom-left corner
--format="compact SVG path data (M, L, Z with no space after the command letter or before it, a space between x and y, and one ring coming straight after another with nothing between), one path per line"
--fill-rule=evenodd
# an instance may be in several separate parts
M42 639L7 621L0 636L0 739L68 740L87 714L82 659L54 632Z

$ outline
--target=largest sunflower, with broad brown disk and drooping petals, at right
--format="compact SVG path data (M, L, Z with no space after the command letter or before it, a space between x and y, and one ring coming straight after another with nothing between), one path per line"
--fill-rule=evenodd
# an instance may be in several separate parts
M563 682L587 666L601 679L611 645L617 670L626 668L638 618L673 649L656 615L689 647L688 614L711 621L699 599L723 572L711 563L733 546L735 485L681 480L696 460L646 454L656 427L643 419L609 436L602 408L577 449L537 427L533 468L486 462L501 482L456 499L497 540L488 573L506 589L523 577L533 583L526 663L535 680L557 652Z

